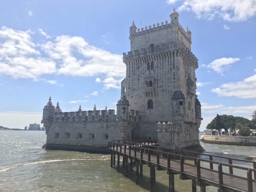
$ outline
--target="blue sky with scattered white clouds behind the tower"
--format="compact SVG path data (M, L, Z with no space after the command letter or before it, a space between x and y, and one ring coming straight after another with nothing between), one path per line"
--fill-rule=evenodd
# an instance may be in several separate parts
M49 96L62 112L116 109L129 27L168 20L192 33L203 131L216 114L256 110L255 0L0 1L0 126L40 123ZM42 126L42 124L41 124Z

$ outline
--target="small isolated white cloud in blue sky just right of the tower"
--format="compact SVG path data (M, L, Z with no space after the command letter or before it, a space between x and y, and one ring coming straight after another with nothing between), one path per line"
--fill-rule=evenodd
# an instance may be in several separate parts
M240 60L239 58L223 57L223 58L212 61L210 64L207 65L207 67L223 75L223 72L225 70L228 70L231 67L230 64L239 60Z

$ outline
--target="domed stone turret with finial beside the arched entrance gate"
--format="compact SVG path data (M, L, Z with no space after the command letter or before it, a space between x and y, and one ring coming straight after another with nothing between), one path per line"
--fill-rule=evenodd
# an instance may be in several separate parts
M129 101L126 99L124 89L122 95L116 104L116 121L129 120Z

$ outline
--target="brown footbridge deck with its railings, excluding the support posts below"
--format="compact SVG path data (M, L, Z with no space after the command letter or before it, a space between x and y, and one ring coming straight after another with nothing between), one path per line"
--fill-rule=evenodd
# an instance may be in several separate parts
M241 190L234 191L256 191L256 162L244 159L222 157L218 155L209 155L205 153L164 148L155 146L156 144L156 140L125 140L123 143L110 141L109 149L110 151L114 152L114 154L119 153L121 155L128 156L130 159L134 159L135 161L153 165L159 170L165 169L175 174L180 174L180 178L195 179L199 183L198 185L200 185L201 182L204 183L204 185L212 185L221 190L230 190L236 188ZM186 154L192 155L190 156ZM209 160L200 158L202 156L209 156ZM219 160L228 160L228 163L213 161L213 157L219 158ZM187 163L185 160L192 160L194 161L194 164ZM209 168L202 167L201 162L209 163ZM235 165L233 164L234 162L251 163L253 168ZM176 166L173 166L173 164L176 164ZM179 164L178 167L177 164ZM218 166L218 170L214 170L214 164ZM223 167L228 167L229 173L223 172ZM247 177L234 175L233 168L247 171ZM207 176L207 173L215 173L218 178L211 178L211 176ZM254 179L252 178L252 175L254 175ZM235 183L231 182L232 184L230 185L230 179L233 179ZM244 181L247 181L247 190L244 190Z

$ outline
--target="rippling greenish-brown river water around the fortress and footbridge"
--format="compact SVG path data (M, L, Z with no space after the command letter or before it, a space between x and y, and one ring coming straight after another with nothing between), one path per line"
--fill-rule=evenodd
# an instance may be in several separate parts
M120 173L110 168L110 155L42 149L46 142L44 131L0 131L0 139L1 192L149 191L147 165L143 165L140 185L135 185L135 171L129 171L129 177L125 178L122 166ZM256 161L256 147L201 145L207 153ZM168 191L166 171L156 171L154 191ZM180 180L179 175L175 175L175 191L191 191L191 180ZM217 188L207 187L207 191L217 191Z

